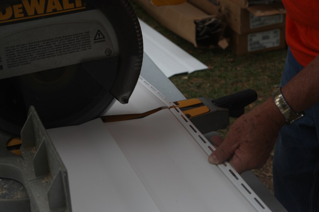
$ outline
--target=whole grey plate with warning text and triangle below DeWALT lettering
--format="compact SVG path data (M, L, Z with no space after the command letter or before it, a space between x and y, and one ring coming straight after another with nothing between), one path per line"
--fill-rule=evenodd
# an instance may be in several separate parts
M97 11L85 13L92 20L105 19L104 14ZM78 20L81 14L67 16ZM108 32L103 30L100 22L64 20L62 16L57 16L54 24L43 24L41 20L35 20L28 23L32 27L19 24L21 29L16 29L16 25L2 26L0 66L3 67L0 67L0 79L102 60L108 57L108 49L112 51L112 56L116 55ZM94 40L95 37L97 40Z

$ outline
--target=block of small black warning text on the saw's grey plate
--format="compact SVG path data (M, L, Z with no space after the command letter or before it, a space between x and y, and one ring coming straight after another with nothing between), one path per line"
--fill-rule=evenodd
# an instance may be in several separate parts
M92 49L90 32L4 47L7 68L31 64L36 60ZM0 59L1 63L1 59ZM0 70L3 68L0 64Z

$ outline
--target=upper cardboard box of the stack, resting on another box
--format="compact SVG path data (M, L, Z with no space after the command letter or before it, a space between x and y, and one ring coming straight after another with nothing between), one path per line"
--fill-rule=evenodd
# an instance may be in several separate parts
M257 4L243 9L232 0L189 2L208 14L222 14L227 26L238 34L281 28L286 24L286 10L282 3Z

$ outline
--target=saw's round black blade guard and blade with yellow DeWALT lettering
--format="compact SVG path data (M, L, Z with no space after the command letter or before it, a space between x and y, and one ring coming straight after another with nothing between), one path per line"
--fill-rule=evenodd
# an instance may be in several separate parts
M53 128L92 120L113 98L128 103L143 59L128 1L7 3L0 12L1 130L19 135L31 105Z

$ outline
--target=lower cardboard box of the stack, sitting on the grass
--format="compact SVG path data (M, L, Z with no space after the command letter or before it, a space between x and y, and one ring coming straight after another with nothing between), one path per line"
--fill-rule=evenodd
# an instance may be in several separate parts
M285 27L242 35L231 31L230 38L231 49L237 55L286 47Z

